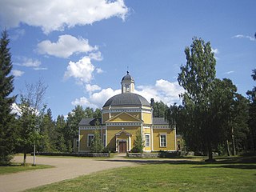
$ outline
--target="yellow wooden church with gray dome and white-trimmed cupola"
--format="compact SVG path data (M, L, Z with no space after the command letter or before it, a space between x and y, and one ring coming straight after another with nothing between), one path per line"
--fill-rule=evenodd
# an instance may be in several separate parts
M128 71L121 85L122 94L114 95L102 106L102 118L83 118L79 123L77 151L90 151L95 129L100 131L103 145L118 153L132 150L138 131L144 139L146 152L177 150L175 128L170 129L164 118L153 118L154 99L150 104L146 98L134 94L134 78Z

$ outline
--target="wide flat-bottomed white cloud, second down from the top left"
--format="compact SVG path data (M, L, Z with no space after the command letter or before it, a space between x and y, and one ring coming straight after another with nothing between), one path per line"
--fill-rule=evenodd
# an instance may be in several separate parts
M90 46L88 39L75 38L72 35L64 34L58 37L58 42L49 40L38 43L39 54L49 54L58 58L68 58L75 53L87 53L98 50L97 46Z

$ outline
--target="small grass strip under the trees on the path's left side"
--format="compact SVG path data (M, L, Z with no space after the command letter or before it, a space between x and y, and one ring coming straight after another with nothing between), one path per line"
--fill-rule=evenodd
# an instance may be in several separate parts
M36 165L32 166L31 164L27 164L26 166L22 166L22 164L12 164L10 166L0 166L0 174L12 174L17 173L20 171L26 171L26 170L38 170L38 169L46 169L46 168L52 168L54 166L47 166L47 165Z

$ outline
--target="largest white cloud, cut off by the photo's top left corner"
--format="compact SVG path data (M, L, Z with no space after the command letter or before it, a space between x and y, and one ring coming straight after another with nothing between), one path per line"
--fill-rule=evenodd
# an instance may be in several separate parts
M84 26L128 13L123 0L2 0L2 26L18 27L20 23L39 26L45 34L65 27Z

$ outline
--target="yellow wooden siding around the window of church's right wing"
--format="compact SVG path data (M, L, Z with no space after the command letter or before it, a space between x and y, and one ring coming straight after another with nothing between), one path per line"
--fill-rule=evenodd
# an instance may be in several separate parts
M175 131L170 129L153 130L154 150L176 150ZM166 134L166 146L160 146L160 134Z

